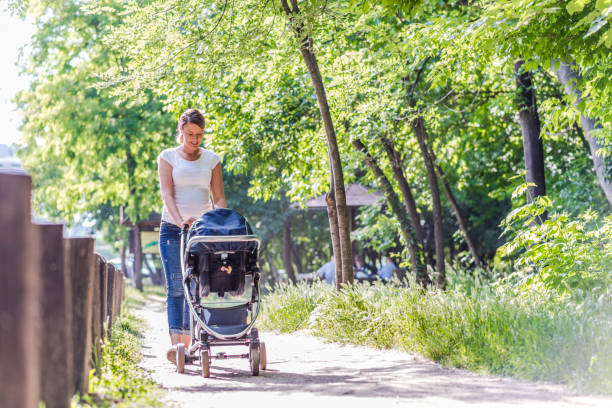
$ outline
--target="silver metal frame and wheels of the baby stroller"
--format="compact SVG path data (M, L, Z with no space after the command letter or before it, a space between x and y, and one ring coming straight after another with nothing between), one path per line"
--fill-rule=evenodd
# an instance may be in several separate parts
M266 369L266 348L265 343L259 341L259 333L254 326L259 310L261 307L260 290L259 290L259 271L253 272L253 288L251 299L247 302L246 306L251 313L251 321L249 324L240 332L234 334L223 334L212 329L206 322L200 317L200 312L204 309L204 306L200 304L199 291L196 290L195 299L190 292L190 280L191 276L188 275L187 257L189 251L187 248L191 248L192 244L195 243L215 243L215 242L255 242L257 244L257 254L259 254L259 247L261 242L255 235L226 235L226 236L195 236L192 237L189 242L187 241L188 227L185 226L181 230L181 271L183 275L183 290L187 305L189 307L189 315L191 321L191 345L188 348L188 353L184 349L184 345L181 349L179 344L177 347L177 371L183 372L184 364L187 356L199 356L199 361L202 367L202 376L205 378L210 377L210 365L212 359L225 360L228 358L248 358L251 366L251 374L256 376L259 375L259 369ZM221 251L225 252L225 251ZM199 283L198 283L199 285ZM225 310L230 310L226 308ZM224 352L213 355L211 353L211 347L213 346L247 346L249 348L248 353L242 354L226 354Z

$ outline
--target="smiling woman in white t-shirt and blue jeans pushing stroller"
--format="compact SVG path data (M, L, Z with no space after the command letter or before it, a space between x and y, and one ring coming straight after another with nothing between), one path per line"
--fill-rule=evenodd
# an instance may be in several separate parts
M185 111L178 123L179 146L157 157L159 184L164 201L159 229L159 250L166 275L168 327L172 347L168 360L176 363L177 343L191 342L189 311L184 298L180 232L203 213L225 208L223 175L219 156L200 145L204 137L204 116L197 109ZM210 195L212 194L212 202Z

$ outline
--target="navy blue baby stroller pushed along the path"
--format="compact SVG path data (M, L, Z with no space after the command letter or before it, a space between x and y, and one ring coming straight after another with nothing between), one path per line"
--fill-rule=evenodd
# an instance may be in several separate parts
M191 345L177 346L176 367L199 357L202 376L212 359L248 358L251 374L266 369L266 346L254 327L261 305L259 239L235 211L216 209L181 231L183 288L191 320ZM246 346L248 353L212 354L216 346Z

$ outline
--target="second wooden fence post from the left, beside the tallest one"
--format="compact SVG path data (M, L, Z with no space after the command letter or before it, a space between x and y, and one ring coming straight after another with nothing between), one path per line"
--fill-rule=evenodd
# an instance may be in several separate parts
M70 406L72 337L70 275L64 268L61 224L37 225L40 234L41 399L46 408ZM44 339L44 341L41 341Z

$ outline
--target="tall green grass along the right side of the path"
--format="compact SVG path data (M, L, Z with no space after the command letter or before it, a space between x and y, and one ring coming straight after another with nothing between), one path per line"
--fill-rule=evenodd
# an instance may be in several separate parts
M417 285L277 285L260 326L309 329L338 342L419 353L445 365L612 393L612 303L517 296L509 286L469 291Z

